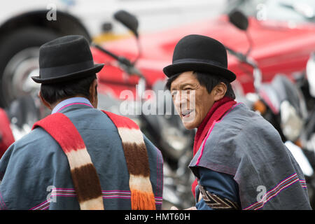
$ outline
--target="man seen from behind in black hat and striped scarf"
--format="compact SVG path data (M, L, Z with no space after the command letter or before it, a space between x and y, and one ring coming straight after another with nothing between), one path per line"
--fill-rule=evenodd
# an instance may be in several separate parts
M52 114L0 160L0 209L161 209L162 155L132 120L97 109L83 36L41 46L39 97Z

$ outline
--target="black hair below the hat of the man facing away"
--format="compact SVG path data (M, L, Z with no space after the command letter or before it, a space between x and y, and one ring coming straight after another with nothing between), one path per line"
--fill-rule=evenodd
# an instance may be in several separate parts
M96 74L78 78L65 83L41 84L41 96L49 104L69 97L81 96L90 98L90 85L96 79Z

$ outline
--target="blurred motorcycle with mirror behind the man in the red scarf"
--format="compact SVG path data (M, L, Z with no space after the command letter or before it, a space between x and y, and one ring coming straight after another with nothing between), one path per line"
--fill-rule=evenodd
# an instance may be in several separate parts
M230 22L241 30L246 31L248 20L239 11L230 14ZM248 34L249 35L249 34ZM240 62L253 68L254 93L246 96L237 95L238 102L244 102L250 109L260 113L279 132L290 153L300 165L307 182L307 190L311 207L315 207L315 111L308 113L307 102L301 89L288 79L287 76L277 74L270 83L262 83L262 72L257 62L248 57L251 47L243 55L227 48ZM314 57L309 59L309 90L314 94ZM237 91L239 92L239 91ZM306 131L305 131L306 130ZM312 140L304 140L311 139ZM304 142L307 141L308 144ZM313 144L312 144L313 143ZM305 146L309 146L306 148Z

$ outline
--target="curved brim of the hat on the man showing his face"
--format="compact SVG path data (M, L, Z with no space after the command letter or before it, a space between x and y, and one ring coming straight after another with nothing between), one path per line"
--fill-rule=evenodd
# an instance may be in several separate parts
M170 64L163 69L163 72L169 78L177 73L182 73L184 71L207 72L210 74L214 74L214 76L221 76L223 78L226 78L230 83L232 83L232 81L236 79L236 75L232 71L221 66L216 66L204 62L179 62L175 64Z

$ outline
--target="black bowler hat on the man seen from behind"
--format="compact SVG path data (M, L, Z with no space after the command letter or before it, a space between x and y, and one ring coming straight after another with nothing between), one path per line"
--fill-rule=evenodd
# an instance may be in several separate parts
M63 36L39 48L39 76L36 83L60 83L93 75L104 64L94 64L90 45L78 35Z

